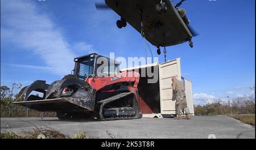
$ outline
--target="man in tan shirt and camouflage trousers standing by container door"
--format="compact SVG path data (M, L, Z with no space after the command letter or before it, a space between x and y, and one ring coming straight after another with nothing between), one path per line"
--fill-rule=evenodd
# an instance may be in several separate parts
M172 91L176 97L176 105L177 105L177 117L174 119L182 119L181 114L183 110L186 114L187 119L191 119L189 115L189 110L187 106L186 96L185 96L185 86L184 83L180 80L177 80L175 77L172 78Z

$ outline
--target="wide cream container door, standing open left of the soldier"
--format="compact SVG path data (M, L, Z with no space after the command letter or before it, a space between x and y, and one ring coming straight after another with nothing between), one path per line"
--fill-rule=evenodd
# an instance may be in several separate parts
M172 77L181 80L180 58L159 64L161 114L176 114L176 98L172 95Z

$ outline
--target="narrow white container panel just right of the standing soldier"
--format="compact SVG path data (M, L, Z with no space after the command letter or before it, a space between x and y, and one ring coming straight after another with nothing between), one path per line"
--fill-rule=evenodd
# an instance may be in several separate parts
M185 95L188 104L189 113L194 115L194 104L193 104L193 96L192 96L192 82L186 78L183 78L185 85Z

